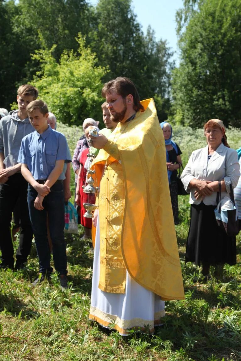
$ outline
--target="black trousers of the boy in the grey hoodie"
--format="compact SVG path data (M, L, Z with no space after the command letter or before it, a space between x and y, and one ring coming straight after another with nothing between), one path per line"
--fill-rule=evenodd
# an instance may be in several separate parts
M30 253L33 231L27 205L27 186L21 173L13 174L6 183L0 184L0 249L4 265L13 266L13 243L10 234L12 212L18 199L20 203L21 233L16 258L18 263L26 262Z

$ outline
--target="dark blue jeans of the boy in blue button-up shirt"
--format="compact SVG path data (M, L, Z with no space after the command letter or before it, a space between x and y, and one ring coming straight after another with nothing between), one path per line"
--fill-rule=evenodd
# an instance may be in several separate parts
M64 241L64 188L63 181L57 181L50 188L43 200L43 210L34 208L37 192L28 187L27 203L29 205L30 221L34 232L36 249L39 257L39 271L49 274L53 271L50 266L50 248L47 238L47 213L50 226L50 236L53 245L53 262L58 274L67 274L66 246Z

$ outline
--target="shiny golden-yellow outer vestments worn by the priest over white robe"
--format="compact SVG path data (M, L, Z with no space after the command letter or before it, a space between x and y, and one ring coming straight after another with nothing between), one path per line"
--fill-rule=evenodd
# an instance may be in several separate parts
M119 123L94 162L97 184L102 177L99 288L124 293L127 269L163 300L184 299L163 132L154 100L141 103L145 111Z

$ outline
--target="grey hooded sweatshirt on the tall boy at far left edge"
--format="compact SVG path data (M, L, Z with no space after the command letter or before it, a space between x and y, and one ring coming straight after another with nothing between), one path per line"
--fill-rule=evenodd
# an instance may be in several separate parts
M9 115L0 120L0 153L4 153L5 167L18 163L18 153L23 137L34 132L35 129L29 118L21 120L18 110L12 110Z

